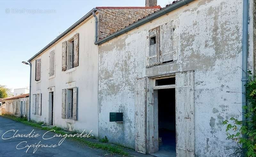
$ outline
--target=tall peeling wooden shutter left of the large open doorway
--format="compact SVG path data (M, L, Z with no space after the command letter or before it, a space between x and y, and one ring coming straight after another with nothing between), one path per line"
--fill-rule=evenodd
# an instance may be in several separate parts
M135 150L147 153L146 149L146 78L135 82Z

